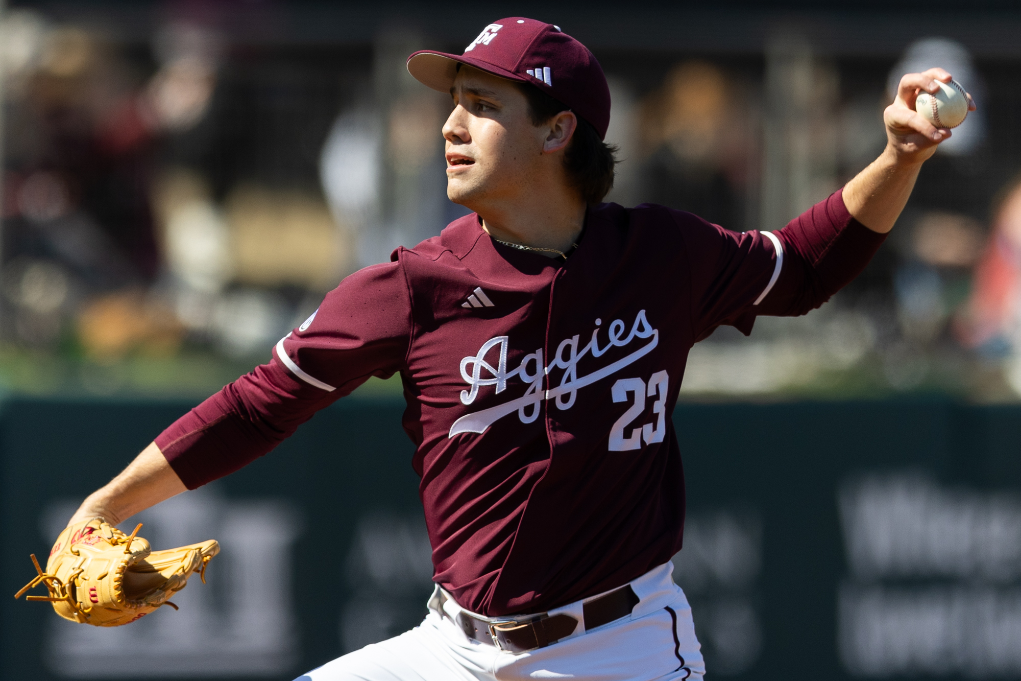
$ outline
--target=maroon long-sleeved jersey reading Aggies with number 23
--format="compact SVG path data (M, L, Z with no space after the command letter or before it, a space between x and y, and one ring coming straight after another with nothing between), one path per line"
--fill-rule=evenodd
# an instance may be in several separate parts
M471 215L344 279L270 364L156 443L195 488L399 372L435 581L483 615L546 610L680 549L670 415L691 346L818 307L882 240L840 192L775 233L604 203L566 262L500 245Z

